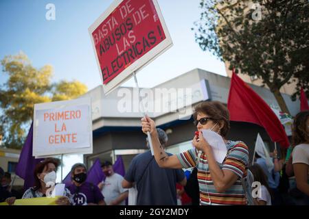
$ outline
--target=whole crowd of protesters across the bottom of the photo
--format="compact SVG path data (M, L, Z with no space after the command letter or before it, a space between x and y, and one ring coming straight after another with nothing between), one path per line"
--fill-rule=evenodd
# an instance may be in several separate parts
M150 132L151 152L137 155L122 177L113 171L111 162L102 164L106 179L94 185L88 183L87 167L75 164L71 168L71 185L57 198L58 205L248 205L243 179L249 173L260 183L254 205L309 205L309 111L294 118L293 136L288 150L270 153L273 166L255 154L249 162L249 150L241 139L227 138L229 111L217 101L198 104L194 124L199 131L192 139L193 148L172 155L165 152L168 136L157 129L148 116L141 119L141 129ZM220 135L227 146L222 163L216 162L214 152L201 131L209 129ZM148 139L147 146L150 147ZM0 168L0 202L14 204L16 198L38 198L48 194L49 182L56 182L58 159L48 158L36 165L35 184L23 196L10 188L10 174ZM183 172L183 168L186 170ZM133 202L132 202L133 200ZM135 200L135 202L134 202Z

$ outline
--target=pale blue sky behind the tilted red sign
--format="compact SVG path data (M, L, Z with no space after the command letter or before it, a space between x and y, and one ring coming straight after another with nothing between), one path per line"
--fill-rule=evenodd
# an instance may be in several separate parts
M200 16L200 0L158 0L174 46L143 68L141 87L153 87L194 68L226 75L225 66L194 41L194 21ZM47 3L56 6L56 21L47 21ZM77 79L89 90L100 85L88 27L112 0L1 0L0 59L23 51L32 64L54 66L53 81ZM156 75L149 77L149 75ZM0 73L0 83L5 81ZM134 86L130 79L124 86Z

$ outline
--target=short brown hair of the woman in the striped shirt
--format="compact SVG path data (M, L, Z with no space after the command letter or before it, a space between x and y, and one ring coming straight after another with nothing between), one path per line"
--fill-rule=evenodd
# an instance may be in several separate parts
M223 127L220 130L220 135L225 138L227 137L231 127L229 124L229 110L227 110L225 105L219 101L203 101L202 103L198 103L198 105L194 108L194 120L196 120L199 112L207 114L210 118L212 118L214 123L223 121Z

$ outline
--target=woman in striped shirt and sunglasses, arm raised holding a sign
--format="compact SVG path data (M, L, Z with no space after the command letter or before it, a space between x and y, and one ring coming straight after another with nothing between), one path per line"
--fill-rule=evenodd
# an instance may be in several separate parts
M155 122L149 117L141 119L142 131L150 131L157 164L161 168L196 166L201 205L247 205L241 179L247 175L249 152L244 142L227 140L230 129L227 107L218 101L205 101L195 107L193 116L200 132L199 136L192 134L195 148L172 156L161 149ZM211 146L201 133L203 129L211 129L222 136L227 146L227 155L222 164L216 162ZM200 159L198 151L202 152Z

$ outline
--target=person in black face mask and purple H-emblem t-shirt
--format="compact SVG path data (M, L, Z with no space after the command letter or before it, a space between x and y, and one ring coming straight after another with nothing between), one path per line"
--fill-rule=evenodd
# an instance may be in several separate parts
M73 205L106 205L98 186L86 181L87 168L84 164L72 166L71 179L72 185L68 189L73 194Z

